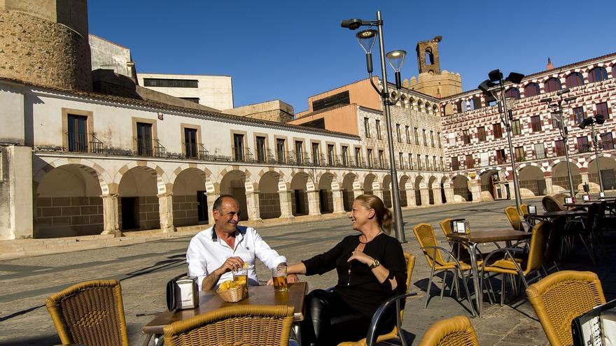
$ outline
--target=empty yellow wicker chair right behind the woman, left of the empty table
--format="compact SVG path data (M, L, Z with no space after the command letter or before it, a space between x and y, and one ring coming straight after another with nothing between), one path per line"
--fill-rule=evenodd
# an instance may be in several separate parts
M454 256L454 254L452 254L449 250L445 249L444 247L438 246L438 242L436 240L436 236L434 235L434 229L432 228L432 225L418 224L413 227L413 233L415 234L415 238L417 238L417 241L419 242L419 246L421 246L423 255L426 257L428 266L430 266L431 268L430 278L428 280L428 288L426 288L426 303L425 305L423 305L423 308L428 308L428 301L430 300L430 289L432 288L432 279L434 277L435 271L445 271L445 273L447 273L447 271L453 270L454 283L458 281L458 272L462 275L462 283L464 286L466 297L468 298L470 311L472 312L472 315L475 316L475 308L473 308L472 306L472 301L470 300L470 293L468 291L468 285L466 284L466 277L464 276L465 271L470 272L470 264L465 264L463 261L458 261L458 259L456 259L456 256ZM444 259L442 252L449 255L449 259L447 261ZM443 277L441 298L444 291L444 283L446 278L447 277Z

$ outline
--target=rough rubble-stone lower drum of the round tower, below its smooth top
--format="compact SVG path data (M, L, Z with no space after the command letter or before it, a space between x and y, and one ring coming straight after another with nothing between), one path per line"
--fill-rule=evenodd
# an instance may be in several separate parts
M92 89L90 45L63 24L0 11L0 76L63 89Z

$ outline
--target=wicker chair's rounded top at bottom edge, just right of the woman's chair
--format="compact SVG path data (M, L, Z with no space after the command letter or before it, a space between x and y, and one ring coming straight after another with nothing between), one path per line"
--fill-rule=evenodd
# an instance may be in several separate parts
M477 334L468 317L456 316L436 322L423 334L419 346L478 346Z

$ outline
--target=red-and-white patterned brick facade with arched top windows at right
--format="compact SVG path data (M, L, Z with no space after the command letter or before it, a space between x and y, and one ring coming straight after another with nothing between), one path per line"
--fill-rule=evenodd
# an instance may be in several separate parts
M576 96L571 103L563 102L563 118L568 125L569 138L568 150L570 154L570 169L573 175L574 187L581 191L579 186L583 182L589 182L591 188L598 190L598 175L596 174L596 155L591 150L584 152L577 147L577 138L587 137L587 143L593 143L591 128L579 129L573 122L573 108L582 107L584 117L596 115L597 107L604 106L608 119L602 125L596 125L598 134L611 134L604 137L606 149L601 150L599 161L603 176L603 185L606 189L613 189L612 178L616 168L616 151L614 140L616 137L616 53L588 59L583 62L569 64L567 66L533 73L527 75L519 85L506 85L505 89L517 87L519 99L508 99L512 110L513 120L519 120L520 134L512 136L513 147L523 147L524 154L517 159L517 171L519 173L522 196L553 194L561 190L568 190L567 170L565 157L562 152L556 152L556 141L561 140L559 129L552 124L552 111L547 103L540 100L556 96L557 90L547 92L547 80L556 78L561 88L566 88L566 78L571 73L581 73L583 85L570 87L570 92L563 97ZM589 74L594 73L595 68L602 67L607 72L601 81L594 81ZM504 72L505 75L507 71ZM601 78L600 78L601 79ZM524 95L524 87L531 82L538 84L540 94L536 96ZM489 97L489 96L488 96ZM481 107L471 109L471 100L481 101ZM478 98L478 99L477 99ZM554 103L554 102L552 102ZM479 89L448 96L440 102L442 112L442 140L444 143L447 164L452 170L451 178L455 194L463 199L473 201L490 199L496 185L512 180L512 167L510 164L510 152L507 145L507 131L501 123L503 136L495 138L493 124L500 123L500 115L496 103L490 105L486 102L486 96ZM600 108L603 110L603 108ZM605 113L605 111L601 111ZM531 117L538 116L540 129L531 126ZM536 119L536 118L535 118ZM484 127L486 138L479 140L478 128ZM463 131L468 131L470 143L463 141ZM611 139L611 142L608 141ZM583 143L583 139L581 139ZM545 154L535 152L535 145L543 143ZM504 160L497 159L497 151L504 149ZM540 148L538 148L540 149ZM583 148L582 148L583 149ZM472 156L472 167L467 164L467 155ZM452 167L452 158L457 157L458 169ZM488 174L485 174L488 173ZM496 175L498 174L498 175ZM496 178L498 177L498 178ZM605 180L608 180L607 182ZM492 181L492 182L491 182ZM496 183L495 183L496 182ZM606 186L607 185L607 186ZM468 191L465 191L468 187ZM466 195L465 195L466 194Z

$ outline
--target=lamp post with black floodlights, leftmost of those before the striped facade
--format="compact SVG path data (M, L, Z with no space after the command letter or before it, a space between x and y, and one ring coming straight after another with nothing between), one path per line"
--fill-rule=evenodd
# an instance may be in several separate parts
M505 82L512 82L513 84L519 84L524 78L521 73L509 73L507 78L503 80L503 73L496 69L488 73L489 79L484 80L479 89L484 94L491 95L494 99L498 100L498 114L500 115L500 122L505 124L505 131L507 131L507 144L509 145L509 156L511 158L511 169L513 172L513 189L515 194L515 206L518 212L521 214L520 205L522 203L521 194L519 192L519 182L517 180L517 171L515 169L515 157L513 151L513 144L511 141L512 129L511 122L513 121L513 113L510 109L507 109L507 101L505 99ZM500 95L497 94L500 92Z

